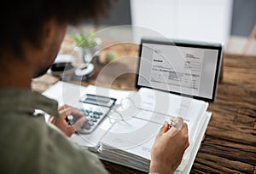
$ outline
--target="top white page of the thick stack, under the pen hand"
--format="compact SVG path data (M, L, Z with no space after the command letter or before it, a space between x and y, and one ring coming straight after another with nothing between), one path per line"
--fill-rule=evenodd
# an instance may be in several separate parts
M201 130L199 125L205 121L207 102L147 88L140 89L137 95L140 97L133 98L140 99L137 114L115 122L108 134L103 137L102 143L150 160L154 136L161 125L165 120L179 116L184 119L189 128L190 147L183 155L183 163L179 167L179 170L183 170Z

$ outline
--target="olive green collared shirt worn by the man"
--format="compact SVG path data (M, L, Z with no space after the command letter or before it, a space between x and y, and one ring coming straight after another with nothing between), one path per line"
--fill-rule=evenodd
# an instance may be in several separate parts
M108 173L96 154L45 123L57 102L30 90L0 90L0 173Z

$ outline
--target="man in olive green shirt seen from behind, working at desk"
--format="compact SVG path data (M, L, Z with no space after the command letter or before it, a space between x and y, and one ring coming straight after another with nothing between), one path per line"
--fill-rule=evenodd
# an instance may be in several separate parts
M0 39L0 173L108 173L95 154L70 142L85 120L73 107L63 106L31 91L32 78L44 74L55 60L67 24L107 13L107 0L22 1L1 3ZM34 109L54 116L48 125ZM74 127L69 114L81 116ZM189 146L188 128L165 123L155 138L150 172L172 173ZM63 133L61 133L61 130ZM175 135L173 134L175 131Z

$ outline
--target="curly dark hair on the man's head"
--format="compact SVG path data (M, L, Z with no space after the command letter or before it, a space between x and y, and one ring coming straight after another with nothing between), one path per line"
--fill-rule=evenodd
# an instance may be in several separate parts
M1 1L0 52L10 49L20 54L20 42L39 47L44 22L55 18L74 25L82 20L98 20L108 14L110 0L23 0Z

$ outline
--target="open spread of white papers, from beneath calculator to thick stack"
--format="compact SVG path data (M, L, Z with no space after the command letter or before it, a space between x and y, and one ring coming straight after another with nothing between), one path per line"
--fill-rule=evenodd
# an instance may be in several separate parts
M207 102L148 88L124 91L63 82L45 91L44 96L57 100L60 106L83 107L79 99L86 93L114 97L117 102L95 131L74 134L73 142L96 152L102 159L148 171L154 137L165 120L178 116L188 125L190 145L177 171L190 171L211 116L206 112Z

